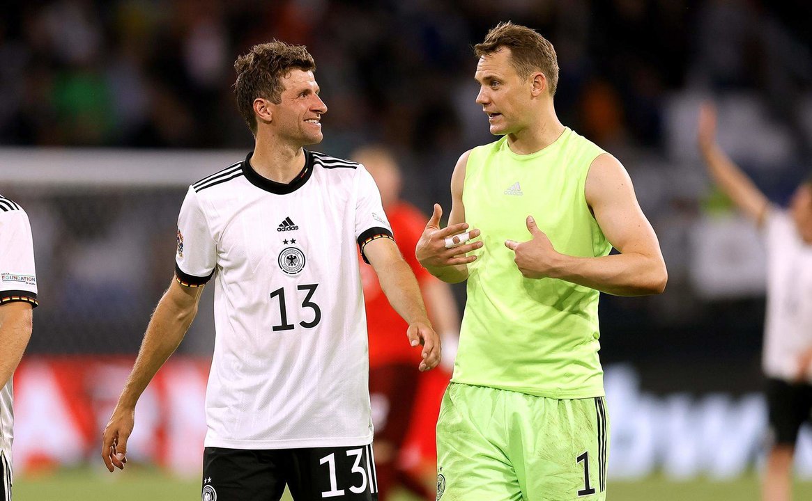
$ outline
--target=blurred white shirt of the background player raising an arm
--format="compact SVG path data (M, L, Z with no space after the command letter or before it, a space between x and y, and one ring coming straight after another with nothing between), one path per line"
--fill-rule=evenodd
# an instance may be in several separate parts
M762 365L768 377L794 381L801 353L812 348L812 245L788 212L772 208L764 222L767 319ZM806 380L812 383L812 375Z

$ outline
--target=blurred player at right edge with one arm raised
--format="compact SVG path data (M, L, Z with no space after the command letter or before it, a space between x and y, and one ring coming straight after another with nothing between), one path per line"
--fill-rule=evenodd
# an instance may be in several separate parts
M710 104L700 109L698 142L711 178L758 227L767 248L762 367L771 448L762 496L787 501L798 430L812 422L812 178L797 187L788 210L770 203L719 148Z

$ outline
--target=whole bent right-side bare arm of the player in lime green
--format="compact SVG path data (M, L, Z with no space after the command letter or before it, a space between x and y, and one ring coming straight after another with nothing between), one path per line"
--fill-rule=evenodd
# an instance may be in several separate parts
M662 293L667 281L657 235L643 215L632 180L615 157L598 156L586 177L586 201L619 255L583 258L559 254L532 217L529 242L505 242L529 278L558 278L618 296Z

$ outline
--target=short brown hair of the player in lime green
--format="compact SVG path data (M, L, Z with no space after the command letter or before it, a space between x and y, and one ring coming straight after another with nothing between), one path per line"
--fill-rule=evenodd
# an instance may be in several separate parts
M503 48L511 50L511 62L522 79L529 77L533 71L541 71L546 76L550 95L555 96L559 67L550 41L526 26L507 21L491 28L485 41L473 46L473 54L482 58Z

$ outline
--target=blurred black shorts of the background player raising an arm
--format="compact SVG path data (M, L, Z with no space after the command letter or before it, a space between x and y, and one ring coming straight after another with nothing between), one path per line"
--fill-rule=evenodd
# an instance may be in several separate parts
M770 430L776 445L795 445L798 430L812 422L812 385L767 379Z

